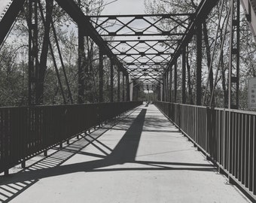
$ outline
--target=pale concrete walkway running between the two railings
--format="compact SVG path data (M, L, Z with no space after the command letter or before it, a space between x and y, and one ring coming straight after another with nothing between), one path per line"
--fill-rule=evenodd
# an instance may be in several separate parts
M0 177L0 202L249 202L154 107Z

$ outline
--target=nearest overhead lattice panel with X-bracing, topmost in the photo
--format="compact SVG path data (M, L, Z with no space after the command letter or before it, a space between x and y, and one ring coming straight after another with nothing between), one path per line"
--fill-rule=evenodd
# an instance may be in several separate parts
M96 26L96 29L102 31L102 36L181 36L184 35L187 28L186 24L190 20L190 14L91 16L90 20ZM172 20L175 25L170 29L163 29L159 23L166 20ZM136 21L146 23L145 27L136 28L133 26ZM114 31L110 31L106 25L112 25ZM153 32L152 29L156 31ZM179 29L179 32L177 32L177 29Z

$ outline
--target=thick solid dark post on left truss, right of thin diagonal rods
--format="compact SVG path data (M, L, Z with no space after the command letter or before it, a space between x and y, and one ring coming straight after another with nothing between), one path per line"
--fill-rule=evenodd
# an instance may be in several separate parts
M85 90L85 50L84 50L84 34L78 26L78 103L84 103L84 90Z

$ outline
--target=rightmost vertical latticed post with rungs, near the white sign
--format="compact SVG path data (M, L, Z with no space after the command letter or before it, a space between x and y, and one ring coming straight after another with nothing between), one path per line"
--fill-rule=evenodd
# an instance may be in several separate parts
M228 108L239 108L240 1L231 0Z

